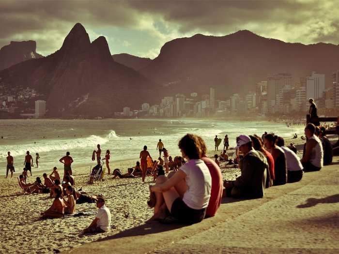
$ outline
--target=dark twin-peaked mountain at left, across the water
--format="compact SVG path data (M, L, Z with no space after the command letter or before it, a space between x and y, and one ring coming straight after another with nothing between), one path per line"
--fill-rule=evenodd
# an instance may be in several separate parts
M36 89L46 95L48 116L112 116L124 106L149 101L154 82L113 60L105 37L92 43L77 23L62 47L40 59L27 60L0 72L8 86Z

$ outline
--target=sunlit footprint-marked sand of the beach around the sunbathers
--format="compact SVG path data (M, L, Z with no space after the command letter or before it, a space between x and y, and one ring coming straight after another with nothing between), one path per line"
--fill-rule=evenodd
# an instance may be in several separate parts
M134 163L131 160L119 162L122 168ZM237 168L225 168L224 163L221 167L224 179L235 179L240 175ZM21 254L29 251L42 254L53 253L54 250L64 251L144 224L152 216L153 210L147 207L146 201L149 196L148 185L152 183L153 177L147 177L146 183L142 184L141 178L112 179L111 175L106 175L104 181L87 184L87 166L74 168L73 172L76 190L82 187L89 194L103 194L106 197L106 206L112 216L110 232L79 236L81 230L94 219L97 210L94 203L76 206L76 212L92 213L88 216L65 216L62 219L37 221L40 212L48 209L53 200L49 194L22 194L16 179L19 174L15 173L12 179L4 179L4 176L0 179L0 253ZM27 182L32 182L36 177L42 178L42 174L42 171L33 171L33 176Z

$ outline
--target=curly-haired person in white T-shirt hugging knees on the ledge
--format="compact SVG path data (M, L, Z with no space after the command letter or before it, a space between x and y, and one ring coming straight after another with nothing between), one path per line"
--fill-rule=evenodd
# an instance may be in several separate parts
M179 141L179 148L188 162L169 179L158 176L156 184L150 186L156 202L154 215L149 221L166 219L166 207L172 217L184 223L198 223L205 217L212 179L208 167L201 160L198 136L186 134Z

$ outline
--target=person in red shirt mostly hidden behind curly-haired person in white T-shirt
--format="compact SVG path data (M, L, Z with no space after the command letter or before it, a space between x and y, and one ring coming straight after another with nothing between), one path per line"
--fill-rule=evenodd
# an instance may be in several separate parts
M201 160L206 164L212 178L211 197L206 209L205 218L216 215L217 209L220 207L223 189L223 180L219 166L206 156L207 148L203 139L198 136L201 148Z

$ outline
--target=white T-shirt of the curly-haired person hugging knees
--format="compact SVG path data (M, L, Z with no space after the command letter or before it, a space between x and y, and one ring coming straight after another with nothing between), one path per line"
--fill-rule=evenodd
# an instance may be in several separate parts
M180 168L186 174L186 185L183 201L192 209L203 209L208 206L211 196L212 179L206 164L200 159L186 162Z

